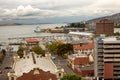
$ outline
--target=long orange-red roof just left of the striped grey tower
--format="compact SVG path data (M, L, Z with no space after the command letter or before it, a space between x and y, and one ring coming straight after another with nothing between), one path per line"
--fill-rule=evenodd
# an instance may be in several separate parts
M88 44L76 44L73 45L74 49L76 50L88 50L94 48L94 43L88 43Z

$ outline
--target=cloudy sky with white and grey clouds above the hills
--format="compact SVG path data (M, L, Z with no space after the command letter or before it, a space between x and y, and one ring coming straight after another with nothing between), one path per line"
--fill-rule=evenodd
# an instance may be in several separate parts
M120 12L120 0L0 0L0 21L80 22Z

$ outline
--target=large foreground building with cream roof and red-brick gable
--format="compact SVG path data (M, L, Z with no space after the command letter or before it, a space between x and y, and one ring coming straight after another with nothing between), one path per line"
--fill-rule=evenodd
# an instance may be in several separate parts
M23 58L14 57L14 65L8 77L9 80L57 80L63 74L64 69L53 63L50 54L44 57L34 52L24 52Z

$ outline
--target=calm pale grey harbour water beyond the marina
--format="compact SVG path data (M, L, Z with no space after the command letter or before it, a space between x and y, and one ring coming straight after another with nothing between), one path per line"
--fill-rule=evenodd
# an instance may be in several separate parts
M8 42L8 38L14 37L36 37L50 35L51 33L35 33L37 26L41 29L61 27L66 24L41 24L41 25L16 25L16 26L0 26L0 43Z

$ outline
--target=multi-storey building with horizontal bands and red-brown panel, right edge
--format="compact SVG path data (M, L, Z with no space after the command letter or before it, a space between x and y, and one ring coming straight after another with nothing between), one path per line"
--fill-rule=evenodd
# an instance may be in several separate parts
M99 37L95 39L94 70L97 80L120 79L120 38Z

